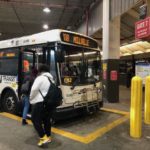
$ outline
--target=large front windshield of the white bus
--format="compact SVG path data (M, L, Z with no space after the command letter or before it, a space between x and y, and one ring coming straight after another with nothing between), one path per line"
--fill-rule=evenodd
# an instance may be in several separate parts
M62 84L85 85L100 81L100 51L63 46L65 59L60 63Z

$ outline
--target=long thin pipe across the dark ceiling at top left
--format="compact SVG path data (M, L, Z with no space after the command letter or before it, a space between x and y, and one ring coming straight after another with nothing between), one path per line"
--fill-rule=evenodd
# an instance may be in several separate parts
M65 8L65 9L83 9L81 6L74 6L74 5L60 5L60 4L46 4L46 3L33 3L33 2L27 2L27 1L19 1L19 0L0 0L2 3L12 3L12 4L26 4L26 5L32 5L32 6L41 6L41 7L50 7L50 8Z

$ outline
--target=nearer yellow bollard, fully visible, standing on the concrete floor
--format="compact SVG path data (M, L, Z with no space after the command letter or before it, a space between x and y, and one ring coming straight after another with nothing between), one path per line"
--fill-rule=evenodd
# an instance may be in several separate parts
M130 136L140 138L142 130L142 79L132 78L130 106Z

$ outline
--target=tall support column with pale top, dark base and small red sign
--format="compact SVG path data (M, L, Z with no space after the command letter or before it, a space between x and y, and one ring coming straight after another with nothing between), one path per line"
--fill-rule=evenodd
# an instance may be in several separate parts
M120 16L110 21L110 0L103 0L103 100L119 102Z

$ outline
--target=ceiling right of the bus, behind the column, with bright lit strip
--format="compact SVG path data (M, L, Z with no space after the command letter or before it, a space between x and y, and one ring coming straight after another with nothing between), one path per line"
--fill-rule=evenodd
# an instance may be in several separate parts
M143 5L143 0L139 0L135 6L121 16L120 56L150 52L150 43L148 41L135 40L135 22L139 20L139 8L141 5ZM102 48L102 30L96 32L93 37L100 41Z

